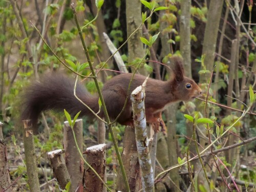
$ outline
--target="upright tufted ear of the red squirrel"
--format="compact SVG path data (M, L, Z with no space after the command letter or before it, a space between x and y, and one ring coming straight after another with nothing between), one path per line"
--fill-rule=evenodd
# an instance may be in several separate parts
M179 56L172 57L172 69L174 73L174 78L177 81L183 81L184 79L184 68L183 68L183 60Z

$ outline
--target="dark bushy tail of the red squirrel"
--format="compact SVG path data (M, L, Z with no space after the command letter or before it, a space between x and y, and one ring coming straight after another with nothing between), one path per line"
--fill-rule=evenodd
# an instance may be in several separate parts
M38 116L42 111L54 110L63 112L66 109L72 116L81 111L80 116L93 114L74 96L75 79L62 74L52 73L33 82L22 96L22 120L31 119L36 126ZM99 110L98 97L92 96L77 82L76 96L86 103L94 112Z

